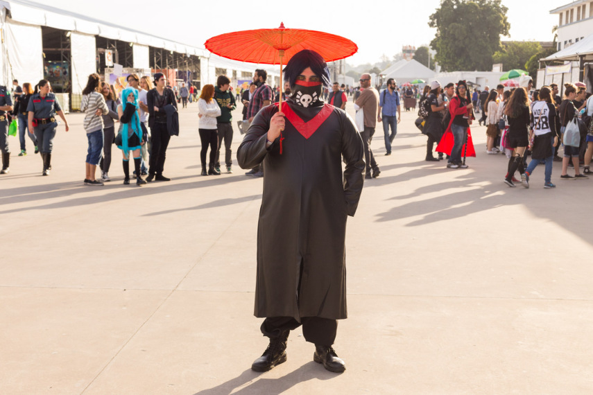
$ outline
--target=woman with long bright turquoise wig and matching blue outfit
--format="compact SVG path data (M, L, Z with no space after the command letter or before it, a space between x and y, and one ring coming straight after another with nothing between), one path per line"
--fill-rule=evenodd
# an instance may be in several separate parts
M142 135L140 117L138 116L138 91L134 88L126 88L121 92L121 105L117 106L117 113L121 121L121 145L118 145L123 152L123 184L130 184L130 151L134 155L134 167L136 169L136 185L146 184L140 176L140 150L146 139ZM117 141L119 143L119 141Z

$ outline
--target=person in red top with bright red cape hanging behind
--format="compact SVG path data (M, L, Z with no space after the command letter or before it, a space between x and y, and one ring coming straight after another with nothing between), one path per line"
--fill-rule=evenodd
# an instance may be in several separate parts
M465 161L461 161L461 154L463 153L464 157L476 156L474 144L472 143L472 134L470 133L470 123L474 119L474 112L472 111L474 105L472 105L465 81L457 82L455 93L456 95L453 96L449 104L451 121L449 121L449 126L442 139L440 139L436 150L449 155L447 168L467 168Z

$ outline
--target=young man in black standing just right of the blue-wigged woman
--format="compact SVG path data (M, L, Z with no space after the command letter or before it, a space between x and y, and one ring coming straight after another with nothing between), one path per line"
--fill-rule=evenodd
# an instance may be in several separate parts
M163 175L166 148L169 146L171 134L167 128L167 116L164 107L172 105L177 109L175 94L167 87L166 77L162 73L155 73L155 88L148 91L146 101L148 106L148 126L151 128L151 159L146 181L171 181Z

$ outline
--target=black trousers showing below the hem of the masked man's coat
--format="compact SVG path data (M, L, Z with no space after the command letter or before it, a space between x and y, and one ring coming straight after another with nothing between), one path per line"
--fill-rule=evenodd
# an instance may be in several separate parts
M301 317L300 321L293 317L268 317L261 323L261 333L270 339L278 339L283 331L292 331L302 325L302 335L307 342L322 346L334 344L338 333L336 319Z

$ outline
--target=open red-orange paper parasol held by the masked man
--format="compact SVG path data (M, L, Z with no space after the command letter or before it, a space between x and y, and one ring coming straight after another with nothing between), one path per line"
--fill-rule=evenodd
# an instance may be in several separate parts
M208 51L223 58L280 64L280 78L282 65L303 49L316 51L326 62L347 58L358 51L358 46L347 38L316 30L287 29L284 24L276 29L243 30L217 35L208 39L204 45ZM282 106L282 100L280 103Z

